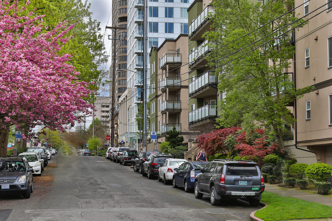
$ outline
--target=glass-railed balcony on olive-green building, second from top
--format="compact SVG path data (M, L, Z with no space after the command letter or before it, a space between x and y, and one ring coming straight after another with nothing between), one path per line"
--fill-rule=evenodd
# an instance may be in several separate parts
M208 45L208 41L205 40L200 46L198 46L195 51L189 54L189 66L197 68L195 69L204 69L207 65L207 60L204 59L205 56L210 53L214 47Z

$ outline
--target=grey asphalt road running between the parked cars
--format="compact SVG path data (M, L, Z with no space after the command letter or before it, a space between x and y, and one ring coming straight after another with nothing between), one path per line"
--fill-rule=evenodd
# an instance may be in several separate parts
M248 221L252 211L242 200L212 206L208 196L149 180L104 157L52 157L41 177L34 177L29 199L0 196L0 221L55 220L228 220Z

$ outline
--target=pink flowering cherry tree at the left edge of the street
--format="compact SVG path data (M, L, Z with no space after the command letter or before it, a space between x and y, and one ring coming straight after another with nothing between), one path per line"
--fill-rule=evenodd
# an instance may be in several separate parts
M94 108L84 99L93 93L89 84L68 64L71 55L59 53L73 27L46 31L42 17L25 10L0 0L0 156L11 125L64 131Z

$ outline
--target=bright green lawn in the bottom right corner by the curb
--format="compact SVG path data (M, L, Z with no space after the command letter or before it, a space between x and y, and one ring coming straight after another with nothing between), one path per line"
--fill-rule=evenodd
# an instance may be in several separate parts
M255 216L265 221L332 217L331 206L292 197L282 197L276 193L264 192L261 201L269 206L258 210Z

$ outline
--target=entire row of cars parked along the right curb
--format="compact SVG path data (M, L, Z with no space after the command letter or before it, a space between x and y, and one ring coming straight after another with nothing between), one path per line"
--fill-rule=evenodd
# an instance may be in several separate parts
M109 148L105 158L124 165L133 164L133 170L142 176L157 177L166 185L171 181L174 188L194 192L196 198L207 195L212 205L219 205L221 199L241 198L257 206L265 190L258 164L251 160L190 162L160 151L141 151L137 155L130 147Z

